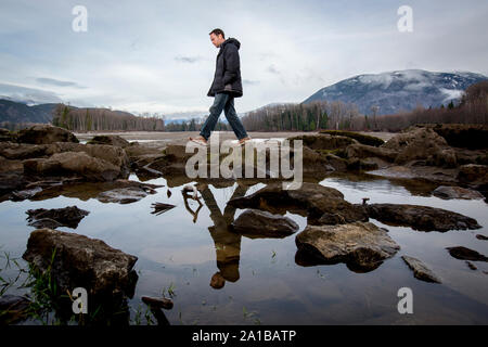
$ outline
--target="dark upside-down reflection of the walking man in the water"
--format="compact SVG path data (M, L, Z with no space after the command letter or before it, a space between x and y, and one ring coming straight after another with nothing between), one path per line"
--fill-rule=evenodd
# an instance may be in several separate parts
M205 205L210 210L210 218L214 221L214 226L209 227L208 230L211 239L214 239L219 271L211 277L210 285L216 290L220 290L226 284L226 281L235 282L239 280L242 236L229 231L230 224L234 221L235 207L227 205L222 216L207 184L200 184L197 189L205 201ZM247 187L237 185L231 198L244 196L246 191Z

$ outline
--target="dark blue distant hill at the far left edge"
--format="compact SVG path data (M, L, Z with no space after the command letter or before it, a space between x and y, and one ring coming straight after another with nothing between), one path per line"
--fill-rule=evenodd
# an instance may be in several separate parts
M0 123L50 123L55 106L55 103L28 106L0 99Z

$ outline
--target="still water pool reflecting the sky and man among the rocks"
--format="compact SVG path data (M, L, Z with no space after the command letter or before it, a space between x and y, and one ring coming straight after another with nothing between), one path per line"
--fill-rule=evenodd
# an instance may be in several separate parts
M131 175L131 180L138 180ZM101 239L112 247L137 256L139 280L129 301L131 318L145 310L141 296L172 294L175 307L165 311L171 324L487 324L488 264L452 258L449 246L465 246L488 254L488 205L484 201L444 201L422 190L380 177L329 177L322 185L339 190L351 203L370 197L370 203L419 204L453 210L477 219L475 231L419 232L410 228L385 226L401 249L377 269L356 273L344 264L303 267L295 262L295 235L284 239L248 239L230 232L229 221L243 210L232 209L232 196L248 195L264 183L248 188L214 187L196 201L184 204L182 187L168 188L164 178L145 181L163 184L157 194L120 205L59 196L44 201L0 203L0 250L20 258L29 233L26 210L76 205L90 211L76 230ZM410 189L410 190L409 190ZM170 197L167 191L171 191ZM152 214L151 204L177 207ZM195 213L197 210L197 213ZM301 231L306 218L287 214ZM299 232L298 231L298 232ZM416 280L401 259L409 255L423 260L442 284ZM20 260L21 265L23 260ZM25 265L25 264L24 264ZM12 269L3 274L13 275ZM219 277L220 288L211 286ZM400 287L413 292L413 314L397 309ZM12 287L9 293L25 290ZM27 321L25 323L36 323ZM144 323L144 318L142 320Z

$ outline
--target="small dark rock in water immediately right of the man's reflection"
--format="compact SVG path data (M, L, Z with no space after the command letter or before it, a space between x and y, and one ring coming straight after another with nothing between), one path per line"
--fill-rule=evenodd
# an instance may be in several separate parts
M251 239L281 239L295 233L298 228L298 224L288 217L259 209L246 209L232 223L231 230Z

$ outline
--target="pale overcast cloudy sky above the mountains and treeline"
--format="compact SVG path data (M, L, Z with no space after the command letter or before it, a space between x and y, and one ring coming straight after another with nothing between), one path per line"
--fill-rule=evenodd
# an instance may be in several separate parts
M76 5L87 31L73 30ZM398 8L413 10L400 33ZM218 52L241 41L237 112L301 102L359 74L406 68L488 76L488 1L1 0L0 95L129 112L206 112Z

